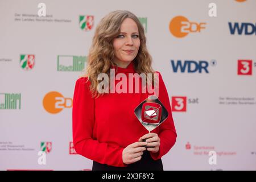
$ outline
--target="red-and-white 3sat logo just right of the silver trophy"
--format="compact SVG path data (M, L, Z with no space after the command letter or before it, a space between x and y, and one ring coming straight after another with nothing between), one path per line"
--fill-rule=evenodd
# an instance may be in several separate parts
M188 104L199 104L199 98L187 98L186 96L172 97L172 111L186 112Z

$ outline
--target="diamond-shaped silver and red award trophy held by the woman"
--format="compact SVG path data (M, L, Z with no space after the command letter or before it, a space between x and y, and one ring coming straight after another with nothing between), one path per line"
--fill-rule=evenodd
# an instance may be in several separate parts
M142 125L148 130L148 133L158 127L168 117L168 111L154 95L149 96L141 102L135 108L134 113Z

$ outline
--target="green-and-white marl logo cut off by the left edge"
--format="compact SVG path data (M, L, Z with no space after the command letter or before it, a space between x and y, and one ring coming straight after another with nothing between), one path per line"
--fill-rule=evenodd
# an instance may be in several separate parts
M20 93L0 93L0 109L20 109Z

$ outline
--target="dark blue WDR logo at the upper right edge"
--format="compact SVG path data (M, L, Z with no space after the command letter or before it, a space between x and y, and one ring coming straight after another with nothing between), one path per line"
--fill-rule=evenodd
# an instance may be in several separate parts
M234 35L237 34L238 35L256 35L256 23L238 23L235 22L232 24L232 22L228 22L229 23L229 30L230 30L230 34Z

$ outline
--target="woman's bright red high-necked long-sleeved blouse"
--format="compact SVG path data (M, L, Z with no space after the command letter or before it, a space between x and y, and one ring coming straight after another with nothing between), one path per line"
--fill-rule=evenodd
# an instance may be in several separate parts
M135 73L133 61L127 68L115 68L117 73ZM156 72L159 73L159 72ZM105 93L93 98L89 90L88 77L76 81L73 96L73 143L78 154L101 164L126 167L122 161L123 149L148 131L139 122L134 109L150 94L147 93ZM115 81L115 85L119 81ZM141 84L141 83L140 83ZM127 89L128 90L128 89ZM176 142L176 130L172 118L170 100L159 73L159 100L169 115L152 133L160 138L159 151L150 152L152 159L162 158Z

